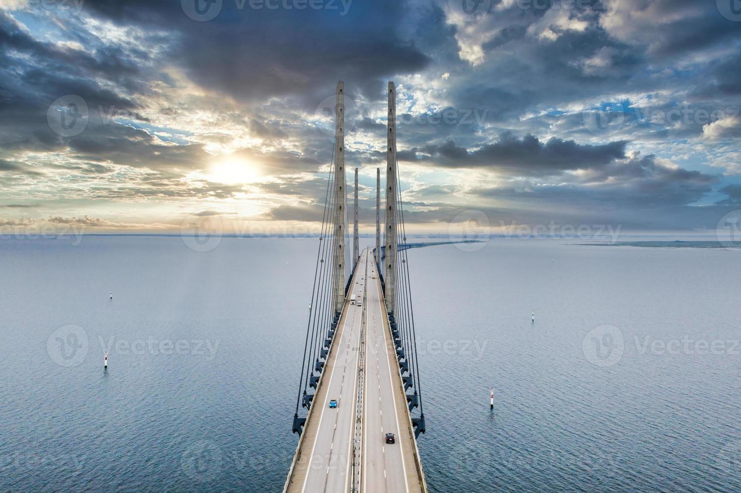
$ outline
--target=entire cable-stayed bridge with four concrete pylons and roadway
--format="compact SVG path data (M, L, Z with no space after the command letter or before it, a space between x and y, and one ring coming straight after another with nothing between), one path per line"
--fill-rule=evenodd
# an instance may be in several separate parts
M382 212L376 170L376 246L362 252L357 169L353 234L348 231L342 81L335 115L293 415L299 443L284 492L426 492L416 443L425 432L425 414L396 158L396 87L389 82L385 207Z

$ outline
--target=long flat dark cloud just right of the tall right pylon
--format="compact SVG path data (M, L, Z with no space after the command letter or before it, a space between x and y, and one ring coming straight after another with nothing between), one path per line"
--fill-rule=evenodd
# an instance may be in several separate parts
M510 133L499 135L499 141L478 150L468 151L455 141L428 145L403 152L399 159L413 161L416 154L433 159L444 167L486 167L531 176L559 175L565 170L605 167L625 158L625 141L603 145L576 144L551 138L541 142L534 135L516 138Z

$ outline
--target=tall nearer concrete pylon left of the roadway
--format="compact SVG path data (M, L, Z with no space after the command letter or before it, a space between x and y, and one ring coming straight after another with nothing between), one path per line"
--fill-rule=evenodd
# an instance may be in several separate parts
M345 209L347 192L345 189L345 82L337 83L334 126L334 251L333 298L334 309L342 312L345 305Z

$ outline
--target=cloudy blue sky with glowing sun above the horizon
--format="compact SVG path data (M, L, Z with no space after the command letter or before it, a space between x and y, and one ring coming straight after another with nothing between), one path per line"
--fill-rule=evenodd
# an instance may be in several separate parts
M362 233L393 81L411 232L712 234L741 209L735 7L0 0L0 232L316 232L342 80Z

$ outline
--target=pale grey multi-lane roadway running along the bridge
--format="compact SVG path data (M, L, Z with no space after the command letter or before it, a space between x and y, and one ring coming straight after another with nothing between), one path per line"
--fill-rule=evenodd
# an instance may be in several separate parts
M360 255L348 300L352 294L356 297L362 294L363 306L345 302L325 370L296 448L285 492L353 491L353 425L364 317L365 385L362 443L359 444L361 490L363 493L426 491L396 352L391 342L381 284L372 259L369 249ZM329 408L331 399L337 400L336 409ZM396 435L396 443L385 443L385 433L389 432Z

